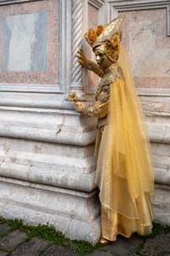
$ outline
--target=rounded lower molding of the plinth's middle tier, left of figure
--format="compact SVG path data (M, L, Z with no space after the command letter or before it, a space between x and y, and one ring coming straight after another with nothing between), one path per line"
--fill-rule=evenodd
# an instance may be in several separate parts
M31 183L46 184L86 192L90 192L96 188L94 183L95 172L74 173L68 170L67 167L65 166L65 171L59 171L3 162L0 166L0 175L2 177L20 179Z

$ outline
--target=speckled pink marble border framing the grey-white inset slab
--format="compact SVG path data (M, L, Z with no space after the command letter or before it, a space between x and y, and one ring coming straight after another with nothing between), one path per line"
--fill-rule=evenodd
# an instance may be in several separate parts
M11 72L1 71L0 82L8 84L57 84L59 82L59 1L43 0L10 4L0 7L0 68L2 68L3 16L48 13L48 70Z

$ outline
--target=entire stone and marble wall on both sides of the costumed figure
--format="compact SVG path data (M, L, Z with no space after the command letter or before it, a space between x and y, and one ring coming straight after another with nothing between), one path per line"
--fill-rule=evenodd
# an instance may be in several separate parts
M94 58L82 35L126 12L123 44L152 144L156 221L170 223L168 4L0 0L0 215L54 224L71 239L99 240L96 120L65 98L75 90L94 100L98 80L76 58L80 47Z

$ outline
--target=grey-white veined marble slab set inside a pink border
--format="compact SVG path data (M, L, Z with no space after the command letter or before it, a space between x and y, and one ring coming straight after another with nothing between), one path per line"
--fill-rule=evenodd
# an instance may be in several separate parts
M3 71L46 71L47 12L3 16Z

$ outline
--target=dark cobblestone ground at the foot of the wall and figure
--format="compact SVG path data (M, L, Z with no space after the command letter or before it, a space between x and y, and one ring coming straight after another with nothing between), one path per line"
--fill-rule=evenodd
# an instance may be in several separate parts
M33 237L26 232L10 230L8 224L0 224L0 256L75 256L80 255L53 242ZM84 255L84 254L83 254ZM117 237L115 242L100 247L90 256L170 256L170 233L144 239L132 236L129 239Z

